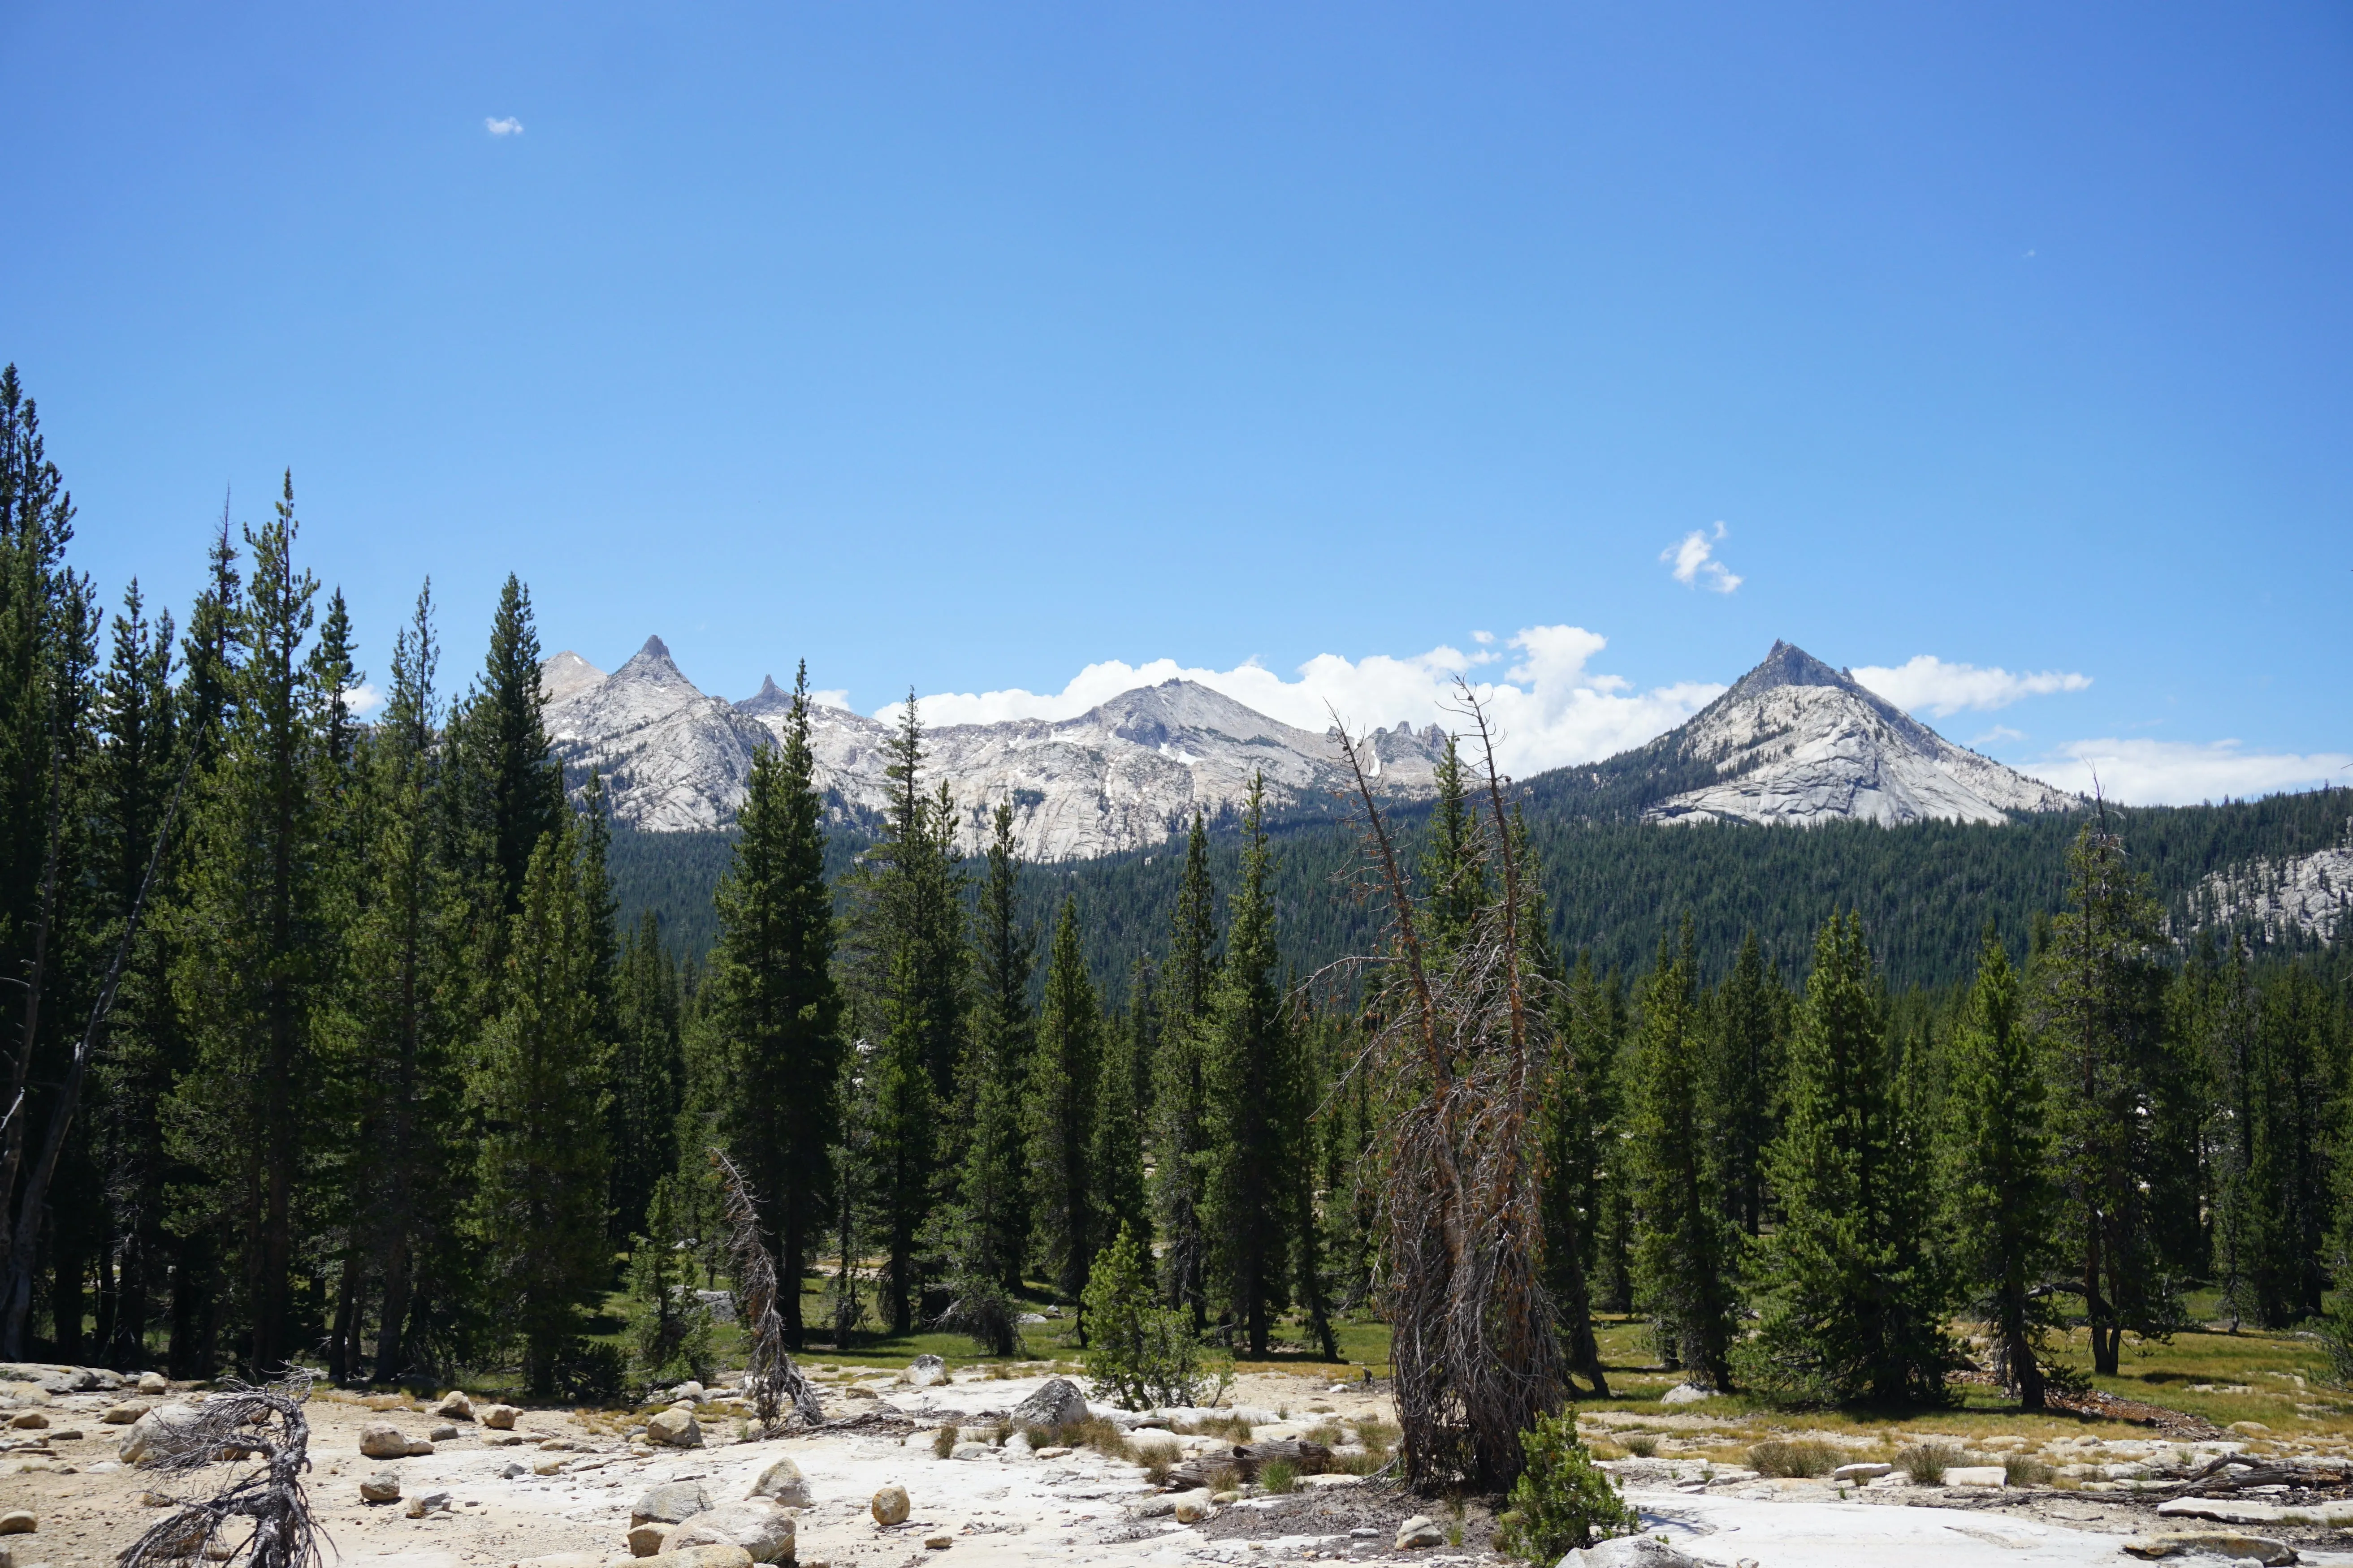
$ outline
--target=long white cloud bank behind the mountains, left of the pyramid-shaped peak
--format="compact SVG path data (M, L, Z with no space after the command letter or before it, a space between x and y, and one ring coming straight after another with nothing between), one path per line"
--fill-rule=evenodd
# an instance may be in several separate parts
M1487 722L1499 731L1497 757L1513 773L1539 773L1572 762L1593 762L1642 745L1682 724L1722 693L1715 682L1675 682L1652 691L1633 691L1621 675L1588 670L1588 661L1607 646L1607 637L1579 625L1532 625L1508 639L1518 663L1499 682L1473 682L1487 705ZM1188 679L1273 719L1322 733L1337 710L1351 729L1391 729L1440 724L1461 729L1454 712L1454 677L1468 675L1499 654L1464 654L1435 646L1428 654L1398 658L1369 654L1358 661L1318 654L1299 665L1299 679L1282 679L1257 661L1233 670L1202 670L1155 658L1129 665L1111 658L1080 670L1061 691L979 691L918 698L925 724L993 724L1000 719L1075 719L1136 686L1165 679ZM899 705L875 717L894 719Z

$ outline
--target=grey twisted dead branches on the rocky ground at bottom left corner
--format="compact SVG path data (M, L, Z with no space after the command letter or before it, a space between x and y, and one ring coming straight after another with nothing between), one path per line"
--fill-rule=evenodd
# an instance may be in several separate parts
M235 1521L252 1521L252 1535L216 1561L249 1568L320 1568L320 1537L301 1472L311 1469L311 1422L301 1406L311 1399L311 1375L296 1373L268 1387L231 1385L195 1406L186 1420L155 1434L146 1465L167 1476L188 1476L212 1465L245 1465L200 1502L165 1514L115 1559L122 1568L184 1568L219 1552Z

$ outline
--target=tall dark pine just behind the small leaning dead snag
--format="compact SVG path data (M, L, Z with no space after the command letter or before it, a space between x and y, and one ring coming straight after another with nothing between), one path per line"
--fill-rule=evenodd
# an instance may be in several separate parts
M835 1086L842 1004L833 985L833 891L824 802L809 755L809 672L793 682L781 748L753 757L734 865L720 882L711 961L715 1018L729 1044L720 1126L760 1192L762 1246L776 1260L786 1345L800 1349L800 1276L824 1232L840 1135Z

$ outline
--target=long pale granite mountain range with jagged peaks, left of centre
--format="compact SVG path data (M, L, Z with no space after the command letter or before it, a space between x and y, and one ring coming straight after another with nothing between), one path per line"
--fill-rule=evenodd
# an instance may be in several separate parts
M791 712L774 679L744 703L704 696L659 637L602 679L576 654L558 654L541 665L541 684L565 780L581 790L595 766L612 818L652 832L732 825L753 752L781 738ZM887 809L889 738L880 719L812 708L816 783L838 820L873 820ZM948 780L967 849L986 839L998 802L1012 802L1024 853L1042 860L1158 844L1195 809L1238 811L1257 773L1275 809L1346 788L1327 736L1176 679L1075 719L951 724L922 743L927 783ZM1435 726L1374 731L1377 785L1405 799L1431 795L1442 750Z

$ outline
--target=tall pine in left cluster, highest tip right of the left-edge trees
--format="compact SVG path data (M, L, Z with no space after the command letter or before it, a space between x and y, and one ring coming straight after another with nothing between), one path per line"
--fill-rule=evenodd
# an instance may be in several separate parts
M306 656L308 571L294 569L294 482L278 517L247 529L252 583L238 607L245 658L191 823L188 903L174 992L198 1060L174 1095L176 1154L205 1173L191 1220L233 1248L245 1366L296 1352L296 1182L318 1079L313 1016L332 980L327 715Z

